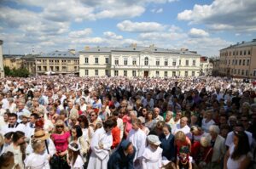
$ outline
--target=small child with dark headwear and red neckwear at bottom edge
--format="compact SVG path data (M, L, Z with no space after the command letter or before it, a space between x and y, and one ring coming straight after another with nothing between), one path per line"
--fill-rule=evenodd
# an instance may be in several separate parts
M192 169L192 157L189 156L189 147L182 146L177 154L177 169Z

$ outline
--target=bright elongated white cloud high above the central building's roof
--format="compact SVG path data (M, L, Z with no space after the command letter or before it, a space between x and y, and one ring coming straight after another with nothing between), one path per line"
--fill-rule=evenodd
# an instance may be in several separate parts
M157 22L131 22L131 20L124 20L120 22L117 27L120 31L131 32L150 32L150 31L163 31L166 26Z

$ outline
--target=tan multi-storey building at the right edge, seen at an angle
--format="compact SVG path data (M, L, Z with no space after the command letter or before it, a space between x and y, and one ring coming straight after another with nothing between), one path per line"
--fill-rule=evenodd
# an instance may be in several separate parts
M256 39L237 42L219 52L219 73L224 76L256 78Z

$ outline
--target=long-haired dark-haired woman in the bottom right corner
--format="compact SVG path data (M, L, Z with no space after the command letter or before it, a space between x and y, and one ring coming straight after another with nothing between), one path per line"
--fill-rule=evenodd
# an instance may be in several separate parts
M247 168L252 159L246 132L234 132L234 144L224 157L224 169Z

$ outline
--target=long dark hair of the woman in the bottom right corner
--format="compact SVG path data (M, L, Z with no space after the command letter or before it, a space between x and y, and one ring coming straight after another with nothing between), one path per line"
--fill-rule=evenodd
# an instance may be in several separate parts
M238 138L238 144L231 155L231 159L237 160L241 155L247 155L250 151L250 145L246 132L234 132L234 134Z

